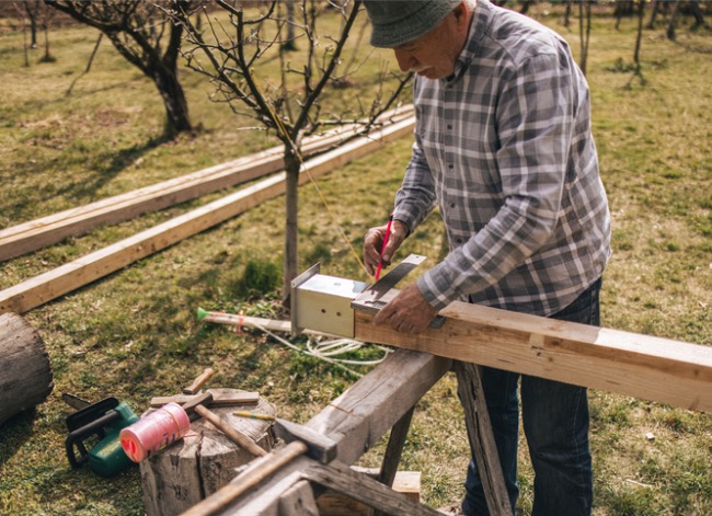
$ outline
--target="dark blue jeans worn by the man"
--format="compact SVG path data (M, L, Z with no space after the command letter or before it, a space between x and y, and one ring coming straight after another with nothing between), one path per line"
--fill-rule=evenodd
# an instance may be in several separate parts
M598 279L573 303L551 317L598 326L600 287L601 279ZM535 470L532 516L590 515L593 469L588 447L586 389L483 367L482 388L504 470L512 512L516 513L519 494L517 383L520 376L521 421ZM474 460L470 460L464 488L466 495L462 502L464 514L489 515Z

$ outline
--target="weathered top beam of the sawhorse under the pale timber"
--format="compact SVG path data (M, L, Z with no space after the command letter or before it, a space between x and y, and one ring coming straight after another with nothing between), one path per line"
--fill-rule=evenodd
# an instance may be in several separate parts
M337 443L340 462L352 465L450 369L450 360L398 349L351 386L307 426ZM220 514L277 516L279 498L313 461L302 457Z

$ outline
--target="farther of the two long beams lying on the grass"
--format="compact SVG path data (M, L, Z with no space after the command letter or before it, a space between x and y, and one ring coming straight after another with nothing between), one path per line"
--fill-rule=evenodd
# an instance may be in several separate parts
M402 121L409 108L389 112L382 119ZM355 126L311 137L302 146L305 156L334 147L354 135ZM47 217L0 230L0 261L36 251L67 237L83 234L101 223L116 223L142 213L197 198L207 193L245 183L284 168L283 148L275 147L228 163L210 167L169 181L145 186L85 206L71 208Z

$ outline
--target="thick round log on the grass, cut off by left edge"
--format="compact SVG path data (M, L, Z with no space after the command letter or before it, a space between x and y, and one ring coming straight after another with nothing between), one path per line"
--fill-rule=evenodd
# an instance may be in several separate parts
M0 314L0 425L47 399L54 383L45 344L16 313Z

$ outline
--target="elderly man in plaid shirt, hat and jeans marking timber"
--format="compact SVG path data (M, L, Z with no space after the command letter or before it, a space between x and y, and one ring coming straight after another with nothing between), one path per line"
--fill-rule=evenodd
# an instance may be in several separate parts
M365 0L371 45L416 74L415 141L390 239L371 228L372 273L437 206L449 253L376 317L418 333L456 299L599 324L610 215L590 134L589 92L566 42L487 0ZM586 390L484 368L509 500L519 397L535 470L533 514L587 515L593 474ZM520 381L520 395L517 388ZM463 514L487 514L470 461Z

